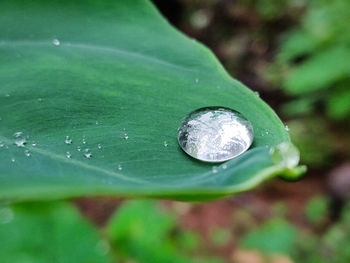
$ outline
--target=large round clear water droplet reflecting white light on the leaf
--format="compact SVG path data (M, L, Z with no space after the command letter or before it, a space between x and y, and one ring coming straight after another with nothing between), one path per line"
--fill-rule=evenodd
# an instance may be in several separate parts
M178 142L198 160L223 162L248 150L253 142L253 127L237 111L206 107L186 116L178 130Z

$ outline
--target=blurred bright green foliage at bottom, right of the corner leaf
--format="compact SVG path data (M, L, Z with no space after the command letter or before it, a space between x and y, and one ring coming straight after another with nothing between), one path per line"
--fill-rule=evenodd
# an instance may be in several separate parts
M110 219L107 233L122 262L221 262L199 257L199 237L176 226L174 214L165 212L151 200L129 201Z

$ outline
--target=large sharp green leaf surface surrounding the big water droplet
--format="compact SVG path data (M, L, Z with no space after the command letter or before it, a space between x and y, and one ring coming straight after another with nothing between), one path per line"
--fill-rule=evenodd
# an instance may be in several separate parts
M0 87L2 199L204 200L300 173L270 157L290 141L275 113L144 0L1 1ZM214 175L176 136L186 114L215 105L241 112L255 139Z

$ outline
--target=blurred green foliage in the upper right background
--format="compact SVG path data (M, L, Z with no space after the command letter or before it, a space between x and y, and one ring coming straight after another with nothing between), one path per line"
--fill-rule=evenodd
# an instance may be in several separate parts
M321 102L335 120L350 116L349 24L348 0L313 0L301 24L285 34L272 69L286 91L299 98L295 108L311 111Z

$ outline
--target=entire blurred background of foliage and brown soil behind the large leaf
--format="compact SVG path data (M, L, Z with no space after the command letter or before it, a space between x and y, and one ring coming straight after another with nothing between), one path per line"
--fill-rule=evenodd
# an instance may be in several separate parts
M270 104L306 177L210 203L0 205L0 262L350 262L350 1L154 1Z

